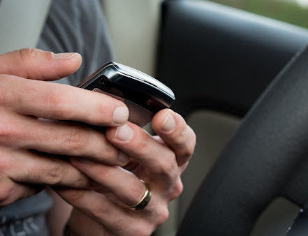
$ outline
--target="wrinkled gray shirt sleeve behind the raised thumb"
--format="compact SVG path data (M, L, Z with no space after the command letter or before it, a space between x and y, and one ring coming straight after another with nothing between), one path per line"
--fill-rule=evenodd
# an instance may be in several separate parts
M112 61L110 34L101 3L98 0L53 0L38 48L82 55L79 71L58 81L65 84L77 85Z

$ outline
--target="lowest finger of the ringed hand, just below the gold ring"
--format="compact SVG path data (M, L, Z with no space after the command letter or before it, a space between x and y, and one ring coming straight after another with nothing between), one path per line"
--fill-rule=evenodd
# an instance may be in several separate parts
M100 193L57 189L59 196L100 223L112 235L151 235L154 228L166 221L166 209L161 214L131 212L116 205Z

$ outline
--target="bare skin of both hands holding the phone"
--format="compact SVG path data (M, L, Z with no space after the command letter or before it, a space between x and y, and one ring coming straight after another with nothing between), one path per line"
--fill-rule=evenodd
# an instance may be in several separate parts
M172 110L155 115L151 136L127 121L114 98L39 81L69 75L80 63L78 54L41 50L0 55L0 206L47 185L73 206L71 235L150 235L182 192L196 135ZM152 199L133 212L126 205L145 193L140 179Z

